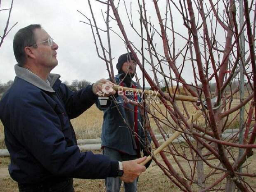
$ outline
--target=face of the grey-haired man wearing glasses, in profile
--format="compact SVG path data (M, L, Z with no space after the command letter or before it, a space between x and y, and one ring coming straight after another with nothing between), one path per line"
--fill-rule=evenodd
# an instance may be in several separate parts
M36 43L39 43L37 44L34 52L36 56L36 63L46 68L53 69L58 64L56 52L56 50L58 49L58 45L53 42L52 46L49 46L47 41L44 43L40 43L50 37L50 35L42 28L37 28L34 31L34 34Z

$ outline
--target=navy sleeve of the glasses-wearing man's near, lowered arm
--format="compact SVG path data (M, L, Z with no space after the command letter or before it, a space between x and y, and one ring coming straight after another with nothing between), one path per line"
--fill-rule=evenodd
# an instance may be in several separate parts
M69 178L103 179L116 176L117 161L101 154L80 152L77 145L68 147L59 118L45 95L31 95L29 100L19 99L19 107L14 110L17 118L13 119L12 126L26 150L47 171Z

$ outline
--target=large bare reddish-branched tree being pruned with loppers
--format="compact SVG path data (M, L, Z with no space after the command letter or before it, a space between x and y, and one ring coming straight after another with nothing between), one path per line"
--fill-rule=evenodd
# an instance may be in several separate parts
M233 192L235 189L242 192L254 191L247 178L256 177L248 163L253 156L252 149L256 148L255 2L243 1L244 22L238 25L239 4L235 0L166 0L161 1L161 4L157 0L147 1L147 4L145 0L138 0L137 5L134 1L133 4L130 2L130 10L125 0L115 3L113 0L97 1L106 5L106 11L102 11L106 28L97 27L90 0L88 4L93 23L84 14L88 22L83 22L91 26L98 56L106 62L109 78L113 78L112 58L111 54L107 57L105 52L110 53L109 33L113 33L121 38L127 51L132 52L136 59L143 74L142 88L145 88L147 81L152 90L160 94L159 100L163 105L144 102L140 107L147 111L165 140L167 138L164 133L182 133L184 143L168 145L167 149L160 152L164 163L158 162L153 156L165 175L185 192L192 192L194 186L200 192ZM120 6L126 9L129 29L127 26L124 28L123 20L120 19ZM154 7L155 11L147 12L149 6ZM109 11L110 7L112 12ZM132 14L132 8L137 9L137 15ZM173 19L174 14L176 18L179 15L178 26ZM136 16L140 21L138 26L133 23ZM158 24L152 22L153 17L157 18ZM118 25L119 31L109 26L110 19ZM133 30L134 35L129 37L126 33L128 30ZM247 36L243 61L240 37L244 31ZM102 43L105 34L108 37L108 48L104 48ZM130 40L134 36L140 39L140 45ZM102 47L103 56L98 52L97 42ZM239 62L242 63L240 66ZM239 81L242 69L247 96L237 100L234 97L241 88L232 84ZM153 75L149 75L149 71ZM188 75L194 78L192 82L186 81ZM158 79L164 82L167 94L162 92ZM181 88L186 95L196 98L194 101L197 102L178 101ZM238 115L234 112L245 105L248 106L245 110L246 121L240 126L245 128L244 140L238 143L238 134L226 137L223 133L234 126L232 123L237 121ZM196 115L192 111L197 115L202 114L201 119L195 121L193 118ZM151 134L155 147L159 147L150 125L152 121L145 123L144 128ZM237 149L244 151L238 156ZM174 168L170 159L175 161L178 168ZM241 167L244 171L241 171Z

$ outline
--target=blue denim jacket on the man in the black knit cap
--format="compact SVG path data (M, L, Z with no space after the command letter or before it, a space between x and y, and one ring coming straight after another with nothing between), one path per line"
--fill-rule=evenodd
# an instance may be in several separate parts
M116 75L115 79L116 83L119 83L121 81L120 74ZM132 81L132 83L136 88L138 87L137 83L134 81ZM125 83L122 83L122 85L129 87ZM133 94L126 96L130 100L135 100ZM141 97L139 94L137 94L137 101L141 102ZM140 146L137 146L135 142L134 130L134 106L126 102L121 95L116 95L114 100L113 97L109 97L106 105L101 105L100 100L98 100L96 105L100 110L104 111L101 135L102 147L109 147L130 155L137 155L139 149L143 150L146 147L149 147L151 137L147 132L146 140L145 131L142 127L143 118L140 115L140 107L138 107L137 113L137 136L140 140Z

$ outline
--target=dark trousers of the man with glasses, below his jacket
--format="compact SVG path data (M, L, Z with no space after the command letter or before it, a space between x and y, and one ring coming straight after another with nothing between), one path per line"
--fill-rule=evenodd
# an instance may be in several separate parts
M75 192L73 188L73 179L38 184L18 183L18 187L19 192Z

